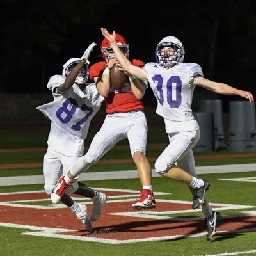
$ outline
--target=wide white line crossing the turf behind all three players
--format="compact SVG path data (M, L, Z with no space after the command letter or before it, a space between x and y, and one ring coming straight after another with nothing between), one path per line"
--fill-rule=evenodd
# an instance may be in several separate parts
M216 166L197 166L196 173L230 173L256 171L256 164L230 164ZM152 177L161 177L152 169ZM86 172L80 175L79 180L114 180L138 178L137 170L110 171L110 172ZM0 177L0 186L44 184L43 175Z

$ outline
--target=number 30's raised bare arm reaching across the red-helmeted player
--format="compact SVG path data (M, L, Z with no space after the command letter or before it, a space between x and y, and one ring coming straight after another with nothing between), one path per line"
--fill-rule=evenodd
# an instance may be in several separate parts
M138 79L148 81L147 72L145 70L132 65L132 63L124 56L123 52L116 44L116 33L113 31L113 35L108 33L106 28L100 28L102 35L109 41L113 51L115 52L116 59L128 75L136 76Z

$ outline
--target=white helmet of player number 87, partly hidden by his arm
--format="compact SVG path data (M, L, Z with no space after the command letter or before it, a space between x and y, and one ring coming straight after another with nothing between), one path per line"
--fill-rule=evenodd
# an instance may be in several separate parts
M71 70L81 61L80 58L71 58L64 65L62 70L62 76L68 76ZM79 74L76 77L76 84L84 84L88 81L89 77L89 69L86 63L84 63L83 68L80 70Z

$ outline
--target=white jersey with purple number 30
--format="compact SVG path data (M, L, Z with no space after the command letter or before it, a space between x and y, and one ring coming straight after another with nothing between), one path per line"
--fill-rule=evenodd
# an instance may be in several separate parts
M192 120L195 80L204 76L202 68L196 63L179 63L169 69L147 63L143 69L157 99L156 113L172 121Z

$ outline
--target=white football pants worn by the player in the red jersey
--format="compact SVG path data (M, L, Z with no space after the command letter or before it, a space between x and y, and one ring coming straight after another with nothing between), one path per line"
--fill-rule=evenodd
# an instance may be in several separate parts
M106 115L100 131L95 134L88 152L72 164L70 173L74 176L86 171L106 154L120 140L128 139L131 155L135 152L146 154L147 120L143 111Z

